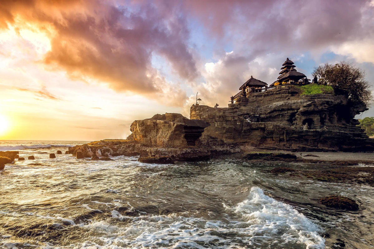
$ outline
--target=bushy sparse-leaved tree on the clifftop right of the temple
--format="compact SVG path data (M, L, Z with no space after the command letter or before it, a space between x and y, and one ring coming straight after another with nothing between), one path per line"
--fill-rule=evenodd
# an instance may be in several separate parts
M373 99L369 81L365 71L357 68L353 63L339 62L334 65L326 63L315 67L313 77L318 77L319 84L332 85L348 92L349 99L355 104L371 103Z

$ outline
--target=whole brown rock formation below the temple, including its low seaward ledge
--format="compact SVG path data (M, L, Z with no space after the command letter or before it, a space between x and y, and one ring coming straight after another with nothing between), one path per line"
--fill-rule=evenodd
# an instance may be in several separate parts
M178 113L156 114L134 121L126 140L95 141L68 153L93 160L140 155L143 162L172 163L254 148L374 151L374 140L356 127L354 119L365 106L351 105L344 91L300 93L291 84L252 89L245 96L237 94L227 108L196 104L191 106L191 119Z

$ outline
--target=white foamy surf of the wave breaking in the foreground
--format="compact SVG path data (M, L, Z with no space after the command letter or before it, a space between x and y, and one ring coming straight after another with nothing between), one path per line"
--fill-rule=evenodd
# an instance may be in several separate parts
M292 206L252 187L248 199L226 206L235 217L228 221L206 220L188 213L124 217L112 212L117 224L105 221L84 226L101 234L82 248L325 248L321 229Z

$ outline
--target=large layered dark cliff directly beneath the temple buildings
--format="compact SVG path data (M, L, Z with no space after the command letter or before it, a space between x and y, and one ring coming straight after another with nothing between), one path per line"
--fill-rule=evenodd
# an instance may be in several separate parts
M352 108L344 95L298 96L295 89L286 88L251 93L239 100L229 108L191 106L191 119L211 124L200 138L202 144L295 151L374 151L374 140L356 127L358 121L354 119L365 108ZM246 118L251 116L258 116L260 122L248 122Z

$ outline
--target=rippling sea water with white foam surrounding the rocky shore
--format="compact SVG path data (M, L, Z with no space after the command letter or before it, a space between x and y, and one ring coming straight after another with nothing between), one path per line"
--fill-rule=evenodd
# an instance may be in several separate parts
M157 165L64 154L83 143L0 141L0 150L25 158L0 171L0 247L373 248L373 187L269 173L325 165L235 155ZM50 159L57 150L63 154ZM318 203L331 194L353 197L360 210Z

